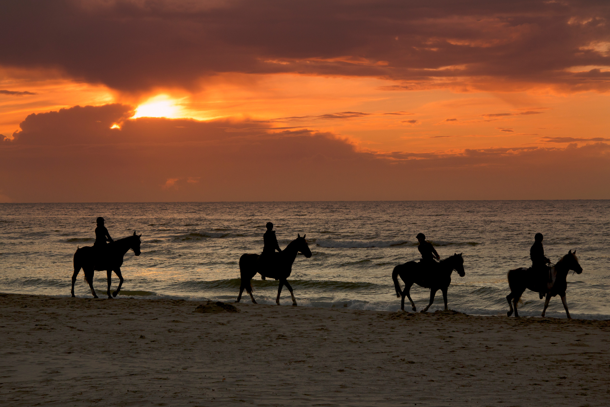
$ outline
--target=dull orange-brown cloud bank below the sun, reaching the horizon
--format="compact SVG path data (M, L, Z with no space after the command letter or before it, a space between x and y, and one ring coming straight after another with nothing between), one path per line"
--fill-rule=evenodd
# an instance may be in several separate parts
M387 153L328 132L125 118L132 111L30 115L0 143L2 192L14 201L610 198L603 142Z

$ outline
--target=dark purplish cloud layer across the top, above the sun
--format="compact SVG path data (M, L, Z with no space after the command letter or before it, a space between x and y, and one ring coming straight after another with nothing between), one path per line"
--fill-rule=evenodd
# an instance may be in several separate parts
M0 1L0 64L124 92L217 73L376 76L388 89L608 90L607 1ZM596 67L572 72L571 67ZM584 69L584 68L583 68Z

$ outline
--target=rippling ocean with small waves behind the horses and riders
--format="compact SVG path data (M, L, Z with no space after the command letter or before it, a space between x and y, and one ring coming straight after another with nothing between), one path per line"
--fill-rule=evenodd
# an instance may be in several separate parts
M297 256L289 278L299 306L399 310L392 269L419 258L415 235L423 232L441 258L463 253L466 275L453 273L449 308L505 315L506 272L531 265L529 247L542 232L551 261L576 250L583 267L568 276L572 317L610 319L609 209L608 200L4 203L0 292L70 296L74 251L93 245L102 216L115 240L142 233L142 255L124 256L118 298L232 301L240 256L262 251L265 223L273 222L280 247L306 234L313 254ZM93 285L104 298L106 272L96 272ZM257 275L253 287L257 302L275 303L277 281ZM82 271L74 290L91 297ZM429 290L414 286L411 297L419 310ZM522 299L520 315L540 315L537 293L526 290ZM250 302L245 292L242 301ZM285 288L281 304L292 304ZM443 309L440 291L436 309ZM547 316L565 318L559 297Z

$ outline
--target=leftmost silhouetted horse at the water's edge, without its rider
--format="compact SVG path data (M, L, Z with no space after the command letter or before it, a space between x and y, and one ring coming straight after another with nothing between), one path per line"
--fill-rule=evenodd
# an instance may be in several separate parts
M142 234L140 234L142 236ZM74 274L72 275L72 297L74 296L74 283L76 282L76 276L82 270L85 273L85 281L91 288L91 294L93 298L98 298L93 289L93 273L95 270L101 271L106 270L108 275L108 298L117 297L123 285L123 275L121 275L121 265L123 265L123 256L127 253L127 250L131 249L134 251L136 256L140 256L140 236L137 236L134 232L132 236L124 239L115 240L113 243L107 243L104 250L107 250L105 254L99 255L93 247L85 246L77 248L74 253ZM99 259L101 257L102 259ZM112 293L110 297L110 278L112 272L115 272L120 279L118 288Z

